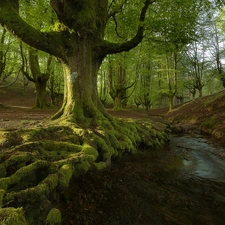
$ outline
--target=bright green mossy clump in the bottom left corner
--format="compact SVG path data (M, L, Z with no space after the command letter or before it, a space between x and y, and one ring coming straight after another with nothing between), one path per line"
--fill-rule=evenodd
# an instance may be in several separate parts
M22 208L0 209L0 225L27 225Z

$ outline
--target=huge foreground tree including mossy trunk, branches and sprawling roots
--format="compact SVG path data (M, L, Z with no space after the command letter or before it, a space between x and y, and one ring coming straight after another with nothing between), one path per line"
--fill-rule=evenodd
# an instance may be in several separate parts
M3 206L0 220L14 225L60 224L60 212L54 208L59 196L55 193L66 190L74 174L93 167L101 169L110 163L111 157L135 153L139 144L160 146L167 138L162 124L141 121L137 125L110 117L97 94L97 72L103 59L107 54L129 51L142 41L148 7L158 1L51 0L59 22L57 30L48 32L32 26L20 14L24 3L35 8L40 1L46 3L44 0L0 0L0 24L28 45L54 55L64 64L64 102L55 118L75 125L41 127L28 130L25 135L25 131L7 133L6 150L2 152L6 155L0 157L3 177L0 178L0 205ZM127 8L130 4L135 5L131 11ZM45 11L46 8L39 15ZM116 15L121 11L133 17L124 22L137 21L132 24L136 25L136 32L131 32L133 36L128 40L112 43L104 38L106 26L111 21L118 28ZM18 208L21 206L28 223ZM20 221L14 222L17 214Z

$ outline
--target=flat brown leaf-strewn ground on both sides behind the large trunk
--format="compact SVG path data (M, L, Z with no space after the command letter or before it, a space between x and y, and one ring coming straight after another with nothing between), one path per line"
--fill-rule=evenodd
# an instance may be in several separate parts
M33 109L35 93L33 89L28 89L25 93L12 92L11 88L0 90L0 129L14 130L20 128L30 128L45 119L49 119L56 108L44 110ZM114 116L120 118L160 118L167 109L158 109L146 112L145 110L108 110ZM159 116L158 116L159 115Z

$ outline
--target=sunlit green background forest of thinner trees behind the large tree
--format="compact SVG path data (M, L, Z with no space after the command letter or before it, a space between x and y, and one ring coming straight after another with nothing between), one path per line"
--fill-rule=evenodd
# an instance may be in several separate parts
M105 106L171 110L174 104L224 88L224 12L201 6L190 15L191 9L186 1L153 5L155 12L146 22L143 42L129 52L106 57L98 74L98 92ZM42 18L36 16L40 10L45 10ZM121 41L132 35L131 28L136 26L132 16L137 11L135 3L129 4L128 12L121 10L110 21L106 38ZM57 23L49 25L54 16L42 1L23 3L21 14L41 30L62 29ZM59 107L64 87L60 61L28 47L5 28L0 28L0 37L0 93L17 83L26 94L33 85L35 108Z

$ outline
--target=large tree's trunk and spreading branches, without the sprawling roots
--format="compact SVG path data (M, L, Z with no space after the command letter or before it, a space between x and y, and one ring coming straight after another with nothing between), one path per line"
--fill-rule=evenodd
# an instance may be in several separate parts
M55 118L76 123L105 115L97 94L97 72L107 54L129 51L137 46L144 32L143 22L153 0L140 1L139 25L133 38L123 43L104 40L105 28L126 1L51 0L60 30L42 32L25 22L19 14L18 0L0 2L0 22L28 45L56 56L66 66L63 106Z

